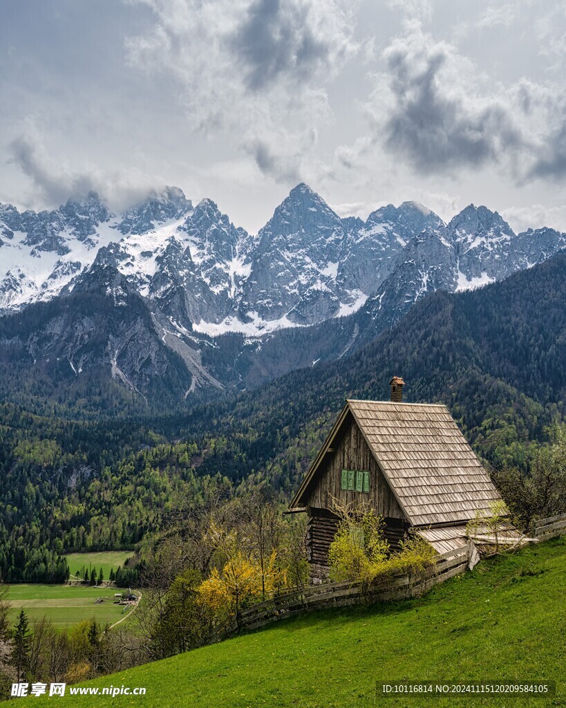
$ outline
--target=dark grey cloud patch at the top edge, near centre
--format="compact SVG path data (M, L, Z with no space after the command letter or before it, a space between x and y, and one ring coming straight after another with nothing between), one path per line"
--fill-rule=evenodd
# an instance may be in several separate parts
M315 36L309 11L292 0L256 0L249 6L231 42L246 67L248 89L263 89L278 76L308 79L328 62L334 38Z

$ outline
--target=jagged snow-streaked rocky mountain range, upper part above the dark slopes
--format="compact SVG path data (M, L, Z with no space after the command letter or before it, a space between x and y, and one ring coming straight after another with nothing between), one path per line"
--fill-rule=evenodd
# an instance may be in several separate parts
M360 309L463 290L539 263L565 245L538 229L518 236L497 212L470 205L449 224L426 207L387 205L340 219L305 184L291 190L258 236L209 199L178 188L112 215L95 193L52 212L0 205L0 310L76 287L112 265L178 331L258 336ZM373 307L373 306L372 306Z

